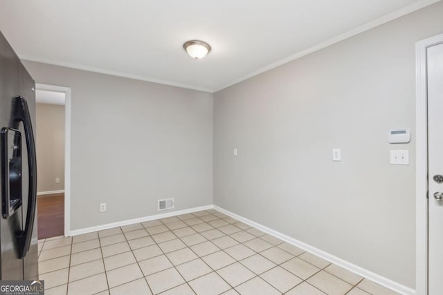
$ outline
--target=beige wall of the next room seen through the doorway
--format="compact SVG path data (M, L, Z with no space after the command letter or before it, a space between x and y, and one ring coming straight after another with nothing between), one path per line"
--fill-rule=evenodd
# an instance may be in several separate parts
M37 104L36 113L37 191L58 191L64 189L64 106Z

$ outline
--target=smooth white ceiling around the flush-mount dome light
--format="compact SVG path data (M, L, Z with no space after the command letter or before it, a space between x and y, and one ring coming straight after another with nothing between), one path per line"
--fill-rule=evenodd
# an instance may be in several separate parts
M10 0L0 30L22 59L212 92L437 1Z

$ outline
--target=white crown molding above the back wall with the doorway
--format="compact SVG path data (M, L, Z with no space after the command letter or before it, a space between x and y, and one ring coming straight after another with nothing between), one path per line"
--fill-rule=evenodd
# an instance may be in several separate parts
M19 58L22 60L25 60L25 61L35 61L35 62L40 62L43 64L52 64L53 66L64 66L66 68L75 68L77 70L87 70L87 71L93 72L93 73L99 73L99 74L111 75L111 76L116 76L116 77L141 80L141 81L145 81L145 82L152 82L152 83L156 83L156 84L163 84L166 86L173 86L173 87L179 87L179 88L186 88L186 89L190 89L190 90L197 90L197 91L204 91L204 92L208 92L208 93L213 93L213 90L211 90L210 88L204 88L204 87L193 86L193 85L188 85L188 84L180 84L180 83L165 81L165 80L161 80L161 79L154 79L154 78L150 78L150 77L143 77L143 76L132 75L132 74L123 73L123 72L117 72L117 71L113 71L113 70L105 70L103 68L94 68L92 66L83 66L81 64L72 64L69 62L54 61L52 59L44 59L44 58L39 58L39 57L33 57L30 55L19 55Z

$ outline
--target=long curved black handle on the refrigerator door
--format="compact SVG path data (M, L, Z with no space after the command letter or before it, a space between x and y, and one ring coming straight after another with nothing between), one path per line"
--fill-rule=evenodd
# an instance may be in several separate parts
M33 125L31 123L28 103L21 96L15 98L16 120L24 124L26 149L28 150L29 165L29 191L28 191L28 210L26 212L26 224L23 231L17 234L19 245L19 258L24 258L28 253L31 236L33 234L35 207L37 206L37 160L35 155L35 141Z

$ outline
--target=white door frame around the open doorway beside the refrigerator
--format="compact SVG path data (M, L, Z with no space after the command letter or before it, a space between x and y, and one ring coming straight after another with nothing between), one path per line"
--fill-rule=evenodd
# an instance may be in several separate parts
M37 90L64 93L64 236L71 232L71 88L35 84Z

